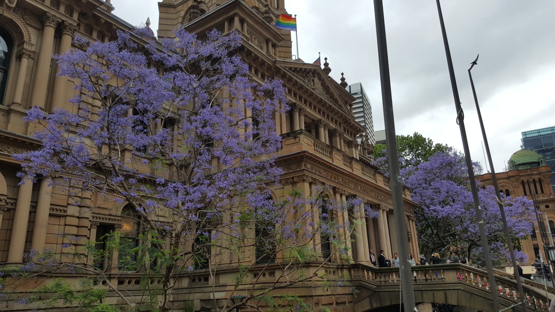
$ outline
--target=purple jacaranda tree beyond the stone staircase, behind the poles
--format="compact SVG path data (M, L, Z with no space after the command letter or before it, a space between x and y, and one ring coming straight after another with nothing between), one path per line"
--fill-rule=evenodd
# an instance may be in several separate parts
M480 231L464 156L455 149L447 149L418 165L400 161L405 163L401 170L403 184L411 189L412 200L418 203L415 214L421 253L430 259L435 252L446 257L451 250L458 250L461 259L468 258L474 264L483 265ZM376 163L387 163L387 159L379 158ZM476 174L481 173L479 163L473 166ZM509 255L495 190L478 182L478 197L492 259L496 265L501 265L507 262ZM501 199L513 243L518 246L530 233L534 222L532 201L504 195ZM517 252L516 256L517 259L527 257L523 252Z

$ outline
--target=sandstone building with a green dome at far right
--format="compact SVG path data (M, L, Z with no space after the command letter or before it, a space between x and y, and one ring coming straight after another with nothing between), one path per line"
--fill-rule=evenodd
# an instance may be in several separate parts
M551 169L543 156L531 150L518 150L511 155L508 161L508 171L497 173L499 192L506 196L527 196L534 201L537 210L541 212L539 218L546 226L547 237L555 233L555 195L551 188ZM493 185L491 173L477 176L484 185ZM546 221L547 220L547 221ZM549 228L551 228L551 231ZM535 269L532 266L536 255L542 254L544 262L547 262L544 252L544 244L541 239L538 224L530 225L530 237L522 242L522 251L528 255L524 265L524 274L532 274ZM551 243L552 244L552 243Z

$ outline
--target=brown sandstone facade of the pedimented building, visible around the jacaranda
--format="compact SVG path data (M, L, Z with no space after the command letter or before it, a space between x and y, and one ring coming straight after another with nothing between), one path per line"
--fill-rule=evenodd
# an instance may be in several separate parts
M122 227L122 207L115 202L104 201L95 194L83 195L82 200L92 203L91 211L68 205L69 200L49 186L47 179L19 185L16 173L20 163L12 158L13 154L40 146L31 136L34 125L23 121L27 109L39 106L48 112L62 106L74 110L73 104L67 102L73 96L74 82L56 76L58 68L52 54L72 48L76 33L89 40L108 42L117 30L132 29L112 16L113 9L109 1L100 0L0 2L0 35L8 42L7 73L2 78L4 88L0 89L3 90L0 94L2 265L22 263L24 253L31 249L47 248L61 254L64 241L59 233L70 233L86 242L95 239L100 228ZM315 64L292 62L291 33L272 26L281 13L286 13L284 0L164 0L159 3L159 11L160 37L170 37L171 30L181 25L199 34L213 28L223 33L237 30L241 34L244 47L240 53L249 64L252 79L261 82L266 77L280 78L292 107L289 115L275 116L276 130L283 137L277 163L285 172L281 185L272 189L275 197L293 186L310 193L313 186L325 184L331 186L329 196L338 201L345 201L348 196L364 198L366 204L379 208L380 218L362 220L363 224L357 227L360 235L353 237L351 257L355 262L369 265L369 249L376 255L384 249L386 257L391 258L397 252L397 241L389 180L372 165L371 146L366 142L357 143L356 137L364 129L351 111L354 98L329 76L329 64L326 62L322 69ZM403 196L410 252L418 255L415 203L410 200L408 190L403 190ZM116 274L117 266L112 269L113 283L119 285L121 279L122 289L136 290L138 283L135 282L141 274ZM344 270L349 272L348 267ZM217 278L223 283L231 273L221 274ZM188 295L191 287L201 293L205 280L208 277L201 273L198 279L184 280L175 300L194 299L195 310L216 308L209 306L214 301L200 300L204 298L201 294L198 298ZM306 295L316 295L316 305L332 305L337 310L352 305L353 297L348 289L334 298L326 297L325 293L316 294L312 289L307 291ZM112 299L108 302L117 303ZM11 308L24 309L23 306Z

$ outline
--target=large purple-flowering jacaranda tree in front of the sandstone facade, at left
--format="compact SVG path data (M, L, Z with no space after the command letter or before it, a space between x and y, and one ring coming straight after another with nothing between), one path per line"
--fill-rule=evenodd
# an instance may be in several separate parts
M262 303L310 310L274 291L299 283L334 287L347 278L331 279L325 269L332 257L349 260L357 221L340 224L334 216L362 201L336 203L320 195L325 190L270 196L265 183L278 183L282 173L275 166L281 148L275 117L287 109L286 93L277 79L249 78L240 44L236 33L198 38L183 29L154 42L139 29L109 43L77 37L79 48L56 56L60 75L75 81L73 108L28 111L43 146L15 156L23 161L22 181L51 179L83 214L106 213L98 207L115 201L108 213L125 224L97 242L59 233L62 254L31 250L26 263L4 271L4 298L38 307L122 308L104 303L110 292L125 309L187 309L195 291L181 291L181 306L171 299L183 280L208 275L216 291L216 274L226 270L233 278L219 283L235 291L223 304L211 296L221 311ZM276 266L274 283L251 279L253 268L260 277ZM60 272L76 278L44 280ZM143 273L143 295L131 300L118 289L114 278L122 272ZM41 282L29 288L32 280ZM241 299L231 300L239 290Z

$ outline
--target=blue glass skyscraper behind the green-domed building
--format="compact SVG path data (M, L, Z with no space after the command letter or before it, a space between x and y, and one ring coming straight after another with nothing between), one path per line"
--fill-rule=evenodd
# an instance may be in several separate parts
M522 145L546 157L551 166L551 187L555 190L555 126L522 132Z

